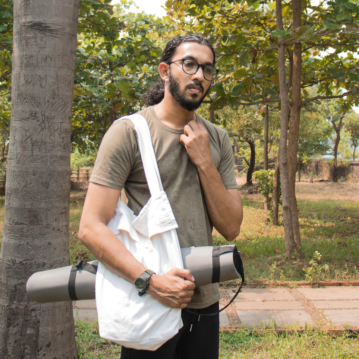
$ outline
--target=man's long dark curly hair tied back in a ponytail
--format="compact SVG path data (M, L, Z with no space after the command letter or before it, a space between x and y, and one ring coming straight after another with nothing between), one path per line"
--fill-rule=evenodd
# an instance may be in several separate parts
M199 45L208 46L213 53L213 66L216 64L216 52L211 43L199 34L179 35L167 42L165 50L162 52L161 62L169 64L173 60L177 47L184 42L196 42ZM165 96L165 82L161 79L152 85L146 93L142 96L142 101L146 102L147 106L152 106L160 103Z

